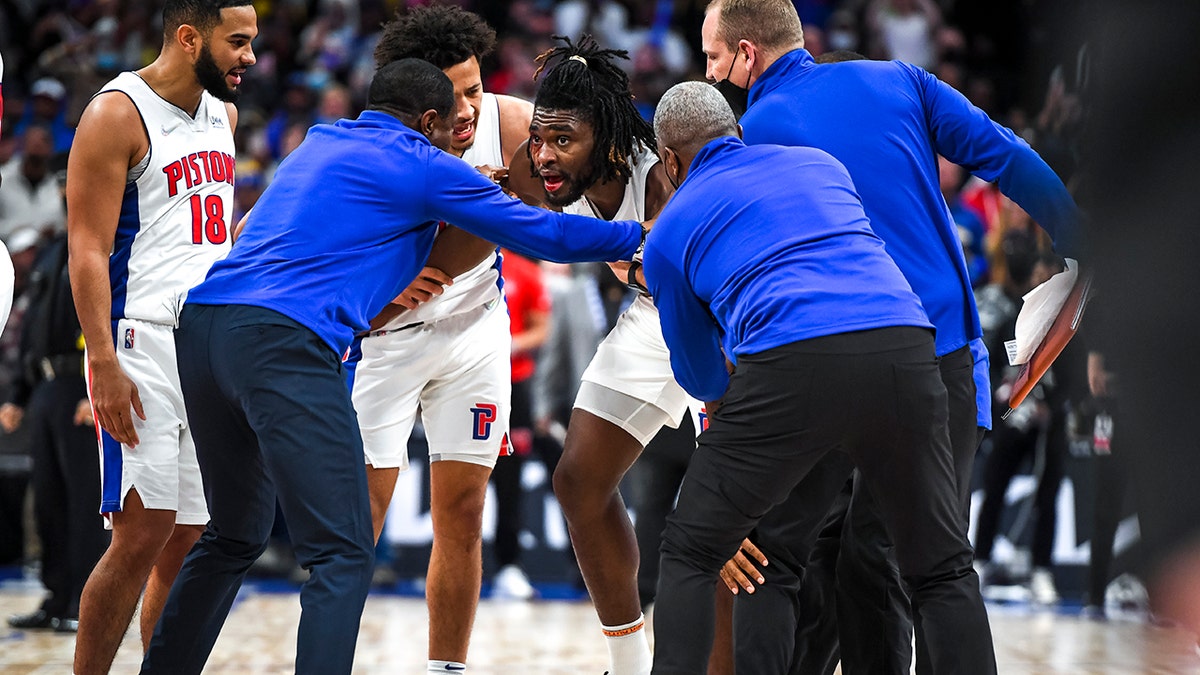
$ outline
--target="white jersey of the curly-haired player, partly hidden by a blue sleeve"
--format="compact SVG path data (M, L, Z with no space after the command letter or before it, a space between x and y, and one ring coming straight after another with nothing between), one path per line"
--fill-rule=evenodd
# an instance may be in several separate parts
M500 148L500 108L494 94L484 94L479 121L475 123L475 142L462 154L462 160L473 167L505 166ZM454 283L446 286L444 293L418 305L415 310L401 313L382 329L395 330L412 323L432 323L481 307L500 297L499 279L500 257L492 252L487 259L454 277Z

